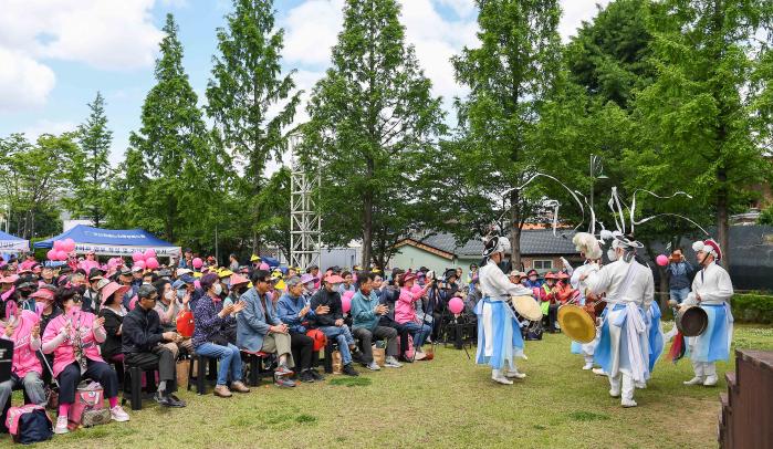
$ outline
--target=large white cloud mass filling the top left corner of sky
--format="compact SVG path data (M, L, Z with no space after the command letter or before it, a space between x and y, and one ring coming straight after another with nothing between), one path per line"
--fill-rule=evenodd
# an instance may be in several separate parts
M21 66L9 69L9 64L0 64L0 93L13 92L10 96L0 95L0 109L44 104L55 82L46 65L51 60L114 71L152 65L163 36L153 24L154 2L3 0L0 52L6 62L14 61L11 65ZM25 74L23 83L38 86L20 88L19 73Z

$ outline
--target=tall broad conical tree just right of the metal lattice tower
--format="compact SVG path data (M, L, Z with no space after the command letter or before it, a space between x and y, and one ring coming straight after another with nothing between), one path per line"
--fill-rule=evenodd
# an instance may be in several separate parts
M346 2L333 64L314 87L304 127L311 167L323 177L325 241L362 239L363 265L384 267L393 244L432 217L425 175L440 164L440 98L406 45L399 10L395 0Z

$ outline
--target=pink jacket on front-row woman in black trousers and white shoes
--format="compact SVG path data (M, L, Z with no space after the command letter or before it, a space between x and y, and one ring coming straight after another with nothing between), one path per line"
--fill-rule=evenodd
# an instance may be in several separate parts
M59 333L62 331L62 327L67 323L67 321L71 320L69 316L65 315L59 315L55 319L51 320L48 326L45 326L45 333L43 334L43 344L56 338ZM92 326L94 324L94 320L96 320L96 315L93 313L88 312L80 312L77 316L73 320L71 330L70 330L70 337L64 341L61 345L59 345L54 351L54 377L59 376L62 370L70 365L71 363L75 362L75 346L74 346L74 338L73 336L75 335L75 325L77 324L79 332L81 333L81 341L83 342L84 345L84 354L86 355L87 358L94 361L94 362L105 362L102 358L102 355L100 354L100 343L94 336L94 332L92 330Z

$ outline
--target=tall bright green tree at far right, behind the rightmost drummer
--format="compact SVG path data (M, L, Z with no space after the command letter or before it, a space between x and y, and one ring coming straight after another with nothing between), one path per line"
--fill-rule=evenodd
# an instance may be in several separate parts
M728 249L730 213L744 210L750 188L770 175L760 117L770 111L771 77L758 75L771 73L773 4L668 0L652 8L657 79L636 101L640 139L650 145L631 153L630 164L650 186L678 179L715 217Z

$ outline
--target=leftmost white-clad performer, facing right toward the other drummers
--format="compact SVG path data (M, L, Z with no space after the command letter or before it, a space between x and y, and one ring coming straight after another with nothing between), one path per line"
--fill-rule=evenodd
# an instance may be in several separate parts
M499 268L504 253L510 251L506 238L493 236L487 239L484 261L478 279L483 299L476 306L478 315L478 353L476 363L491 366L491 379L512 385L510 378L524 378L518 370L514 357L523 357L523 337L515 314L504 303L511 295L532 295L532 290L510 282Z

